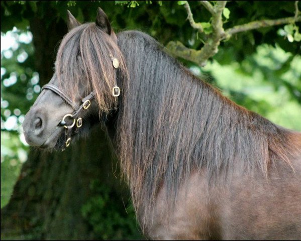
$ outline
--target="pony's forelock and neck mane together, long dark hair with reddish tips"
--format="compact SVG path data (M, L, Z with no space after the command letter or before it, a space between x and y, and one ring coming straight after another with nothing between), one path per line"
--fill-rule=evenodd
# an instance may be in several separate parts
M111 55L121 63L120 76ZM117 45L94 23L83 24L63 39L56 71L69 96L87 86L105 112L116 106L112 88L119 78L117 154L136 211L142 204L151 210L162 183L175 200L195 170L205 169L214 183L237 163L266 177L276 160L290 164L289 131L222 96L144 33L121 32Z

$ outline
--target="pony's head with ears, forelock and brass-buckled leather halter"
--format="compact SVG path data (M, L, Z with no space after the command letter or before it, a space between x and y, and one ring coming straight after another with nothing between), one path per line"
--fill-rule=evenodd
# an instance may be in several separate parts
M53 77L25 116L31 146L64 149L118 105L117 78L127 71L107 15L98 8L95 23L80 24L68 11L67 26Z

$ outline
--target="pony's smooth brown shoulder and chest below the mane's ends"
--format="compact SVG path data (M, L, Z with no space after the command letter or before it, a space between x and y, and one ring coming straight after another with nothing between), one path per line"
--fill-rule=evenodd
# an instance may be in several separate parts
M278 168L281 174L268 180L240 172L215 186L204 173L191 174L173 211L162 201L166 190L159 192L152 214L140 217L145 233L152 239L299 239L301 179Z

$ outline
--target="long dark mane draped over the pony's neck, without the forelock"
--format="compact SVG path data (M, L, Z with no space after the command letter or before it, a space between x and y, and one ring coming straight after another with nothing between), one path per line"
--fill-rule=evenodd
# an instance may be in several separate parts
M231 173L234 159L266 173L269 150L286 158L283 130L200 81L150 36L126 31L118 38L129 71L119 151L135 205L142 198L151 203L162 182L176 193L193 170L205 169L215 180Z

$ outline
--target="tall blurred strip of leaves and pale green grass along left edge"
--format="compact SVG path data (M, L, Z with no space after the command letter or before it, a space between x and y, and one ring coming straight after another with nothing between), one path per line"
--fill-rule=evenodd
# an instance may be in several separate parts
M30 33L15 30L8 36L16 42L1 51L1 207L9 201L22 163L27 160L29 148L20 141L21 125L40 91L39 75L33 71Z

